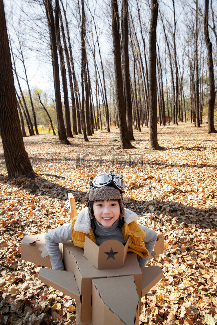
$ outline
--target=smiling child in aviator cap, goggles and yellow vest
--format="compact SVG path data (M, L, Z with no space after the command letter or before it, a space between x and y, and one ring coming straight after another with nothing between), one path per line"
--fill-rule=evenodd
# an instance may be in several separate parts
M138 225L137 214L124 208L125 184L113 173L103 173L90 182L88 206L67 226L52 229L45 235L47 251L53 269L64 270L59 243L73 240L75 246L84 248L85 236L98 246L106 240L125 244L130 236L128 252L138 256L139 265L145 266L153 251L157 233Z

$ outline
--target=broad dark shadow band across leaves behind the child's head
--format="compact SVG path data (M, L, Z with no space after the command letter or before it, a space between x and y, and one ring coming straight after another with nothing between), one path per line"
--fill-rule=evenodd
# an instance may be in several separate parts
M40 175L35 179L20 177L13 180L9 180L7 176L0 175L0 184L2 182L16 186L19 190L26 190L34 196L42 195L58 200L68 200L67 193L70 192L74 195L76 202L88 203L88 192L75 191L73 187L61 186L55 181L47 180ZM175 221L174 229L179 227L181 223L183 224L183 222L186 227L190 224L196 224L198 228L217 228L217 207L214 206L211 208L198 208L184 205L177 201L155 199L137 201L125 196L125 207L136 214L144 216L150 214L152 219L154 216L154 220L161 224L163 224L162 220L164 217L167 217L167 220Z

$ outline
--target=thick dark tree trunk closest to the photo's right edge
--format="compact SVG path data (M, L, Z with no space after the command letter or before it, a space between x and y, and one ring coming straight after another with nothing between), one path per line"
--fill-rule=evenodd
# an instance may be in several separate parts
M208 66L209 66L209 80L210 80L210 97L208 108L208 133L217 133L214 127L214 105L215 105L215 82L214 71L212 62L212 43L210 42L209 30L208 30L208 18L209 18L209 0L205 0L204 10L204 34L208 52Z

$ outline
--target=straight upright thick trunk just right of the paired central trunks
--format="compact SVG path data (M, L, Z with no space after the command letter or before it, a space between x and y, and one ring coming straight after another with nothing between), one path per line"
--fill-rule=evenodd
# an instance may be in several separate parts
M157 142L157 78L156 78L156 27L157 0L151 0L151 22L149 29L149 149L162 149Z

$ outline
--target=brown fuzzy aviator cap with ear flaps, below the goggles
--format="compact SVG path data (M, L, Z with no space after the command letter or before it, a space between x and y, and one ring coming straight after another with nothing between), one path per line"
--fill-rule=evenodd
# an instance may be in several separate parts
M92 208L93 203L92 201L96 200L118 200L120 204L120 217L125 216L125 209L123 204L123 199L121 197L121 193L118 189L111 187L111 186L102 186L99 188L91 189L89 193L89 200L91 201L90 208L89 208L89 215L90 219L93 219L94 216L92 215ZM122 219L122 218L121 218Z

